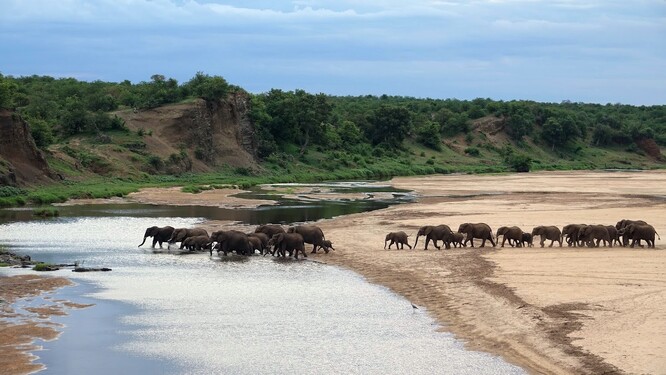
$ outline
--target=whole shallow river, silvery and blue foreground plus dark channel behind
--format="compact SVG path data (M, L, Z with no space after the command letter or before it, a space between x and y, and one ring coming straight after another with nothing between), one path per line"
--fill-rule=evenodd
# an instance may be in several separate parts
M45 373L523 374L498 357L465 350L451 334L437 332L425 310L413 310L403 297L351 271L308 261L221 260L137 248L152 225L186 227L209 219L297 222L410 199L405 192L392 196L283 200L280 206L250 210L74 206L61 207L62 216L50 220L2 210L0 244L47 262L113 268L52 273L78 283L56 298L96 305L54 319L66 327L58 340L40 343L44 350L35 353L47 366ZM12 272L0 269L3 275Z

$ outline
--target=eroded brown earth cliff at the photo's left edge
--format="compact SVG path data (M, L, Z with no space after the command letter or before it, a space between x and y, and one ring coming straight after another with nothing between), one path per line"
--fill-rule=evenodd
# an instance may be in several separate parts
M16 113L0 109L0 185L30 185L53 177L28 124Z

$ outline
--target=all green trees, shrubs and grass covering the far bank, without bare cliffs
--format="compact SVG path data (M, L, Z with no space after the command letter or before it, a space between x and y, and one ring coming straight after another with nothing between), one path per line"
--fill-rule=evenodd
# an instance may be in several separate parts
M252 167L217 165L215 172L194 174L195 163L212 165L206 145L174 145L179 152L153 155L152 131L130 132L114 114L195 98L212 108L238 93L249 98L260 159ZM336 97L278 89L251 95L202 72L183 84L159 74L140 83L0 75L0 107L29 124L49 165L63 176L43 187L1 186L0 207L123 196L145 186L199 193L432 173L663 168L645 144L666 145L663 105ZM0 160L0 175L6 169Z

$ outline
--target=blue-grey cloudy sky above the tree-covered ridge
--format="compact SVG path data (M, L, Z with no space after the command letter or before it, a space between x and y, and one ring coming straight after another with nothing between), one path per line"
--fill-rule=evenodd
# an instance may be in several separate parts
M666 1L0 0L0 73L666 104Z

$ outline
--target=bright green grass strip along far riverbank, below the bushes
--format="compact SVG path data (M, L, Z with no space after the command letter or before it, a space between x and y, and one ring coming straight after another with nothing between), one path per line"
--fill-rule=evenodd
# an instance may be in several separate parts
M395 155L360 155L344 151L317 152L306 155L283 154L267 158L261 170L249 168L224 168L216 173L187 173L182 175L149 175L136 177L94 177L81 181L65 180L33 188L3 187L0 190L0 207L46 206L68 199L94 199L123 197L145 187L181 186L185 193L200 193L216 188L236 187L247 189L261 184L311 183L342 180L381 180L394 176L416 176L449 173L507 173L512 166L494 155L480 157L461 156L453 152L435 152L408 143L407 150ZM532 152L533 151L533 152ZM650 169L662 167L646 165L637 160L627 161L621 151L609 152L585 150L584 155L570 153L550 155L541 149L520 150L531 156L531 171L541 170L594 170L594 169ZM70 176L70 178L78 178Z

